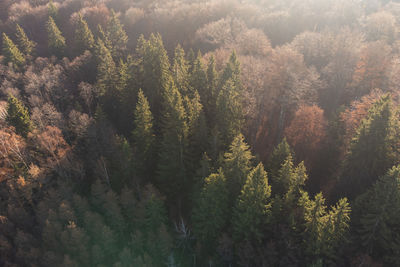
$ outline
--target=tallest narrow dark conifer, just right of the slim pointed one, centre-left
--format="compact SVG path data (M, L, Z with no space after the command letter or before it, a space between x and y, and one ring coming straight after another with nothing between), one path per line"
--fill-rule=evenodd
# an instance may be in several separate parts
M171 199L182 197L187 187L185 147L187 141L186 113L182 96L171 81L164 93L164 119L158 162L160 188Z

